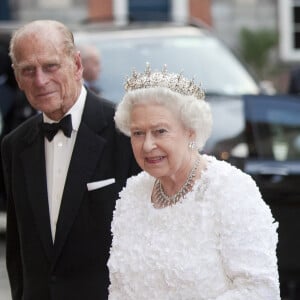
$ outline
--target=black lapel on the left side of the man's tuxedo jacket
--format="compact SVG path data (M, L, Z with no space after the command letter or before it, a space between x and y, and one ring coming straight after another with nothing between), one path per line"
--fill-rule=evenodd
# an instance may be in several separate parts
M28 199L32 207L37 230L49 260L52 256L52 237L46 182L46 166L44 137L39 133L38 126L25 137L27 146L21 152L24 166ZM34 157L34 162L32 158Z

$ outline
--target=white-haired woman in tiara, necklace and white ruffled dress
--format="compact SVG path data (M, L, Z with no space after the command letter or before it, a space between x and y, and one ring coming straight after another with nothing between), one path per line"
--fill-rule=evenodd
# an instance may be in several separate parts
M117 201L109 299L280 299L269 207L250 176L199 154L212 124L202 89L149 66L125 89L115 121L144 171Z

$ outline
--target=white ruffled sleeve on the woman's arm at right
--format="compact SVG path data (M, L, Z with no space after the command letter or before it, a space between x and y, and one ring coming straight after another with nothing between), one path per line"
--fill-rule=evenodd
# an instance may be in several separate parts
M278 224L254 180L225 162L214 164L207 176L213 192L206 194L215 201L219 250L230 282L216 300L279 300Z

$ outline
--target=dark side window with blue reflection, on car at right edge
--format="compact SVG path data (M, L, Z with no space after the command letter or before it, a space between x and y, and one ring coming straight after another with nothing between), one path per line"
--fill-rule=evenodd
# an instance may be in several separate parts
M300 159L300 99L293 96L245 97L252 155L275 161Z

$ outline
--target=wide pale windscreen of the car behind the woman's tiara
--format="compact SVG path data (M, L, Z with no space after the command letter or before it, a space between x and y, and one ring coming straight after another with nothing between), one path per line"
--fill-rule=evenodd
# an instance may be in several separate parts
M99 85L103 96L119 102L123 84L133 69L142 71L167 64L170 72L183 72L201 81L207 94L257 94L258 87L244 66L216 38L199 36L150 36L105 38L101 34L75 34L77 43L95 44L101 51Z

